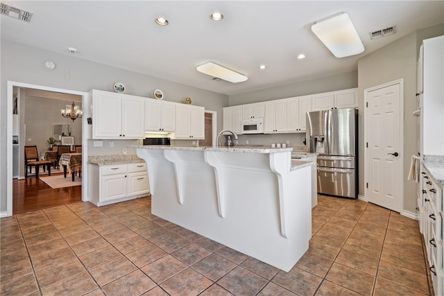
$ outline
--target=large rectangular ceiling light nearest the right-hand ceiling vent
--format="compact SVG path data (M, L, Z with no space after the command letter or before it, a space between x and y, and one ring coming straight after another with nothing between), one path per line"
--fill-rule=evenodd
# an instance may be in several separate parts
M364 45L347 13L339 13L316 21L311 31L327 46L336 58L357 55Z

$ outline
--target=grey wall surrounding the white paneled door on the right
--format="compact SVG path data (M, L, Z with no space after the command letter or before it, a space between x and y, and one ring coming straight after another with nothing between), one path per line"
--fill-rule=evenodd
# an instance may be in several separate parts
M416 64L418 60L418 46L424 37L443 35L443 26L426 28L384 46L361 58L358 62L358 94L359 94L359 133L364 133L364 89L375 87L386 82L404 78L404 151L401 151L404 172L404 209L416 213L416 184L407 181L411 155L418 153L418 117L412 116L416 110ZM418 37L420 36L420 37ZM364 139L359 141L359 154L364 155ZM359 175L364 176L364 157L359 159ZM359 194L364 194L364 178L359 180Z

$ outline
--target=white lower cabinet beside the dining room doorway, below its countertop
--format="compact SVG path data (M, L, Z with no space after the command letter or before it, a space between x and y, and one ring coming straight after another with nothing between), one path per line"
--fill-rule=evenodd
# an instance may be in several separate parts
M148 173L144 162L129 164L88 164L89 201L105 204L139 198L149 193Z

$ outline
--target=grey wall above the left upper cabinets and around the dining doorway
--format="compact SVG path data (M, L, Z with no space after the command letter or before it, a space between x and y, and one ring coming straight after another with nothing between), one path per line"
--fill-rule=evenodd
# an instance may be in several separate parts
M78 55L81 55L79 52ZM207 110L216 111L218 129L222 128L222 108L228 106L228 96L208 92L196 87L182 85L153 76L127 71L91 62L80 60L71 55L62 55L51 51L44 51L31 46L24 46L9 40L1 40L1 100L0 100L0 161L6 164L8 157L6 147L12 143L7 139L7 84L8 80L24 82L33 85L71 89L87 92L89 89L103 89L112 91L115 82L126 85L126 94L150 97L154 89L162 89L166 101L183 102L187 96L193 98L194 105L200 105ZM44 67L46 60L56 63L56 69ZM116 147L117 146L117 147ZM89 147L89 144L88 144ZM108 143L109 149L109 143ZM114 144L114 150L101 149L88 151L89 155L97 153L121 154L119 143ZM99 151L99 152L97 152ZM0 211L6 211L6 169L0 172Z

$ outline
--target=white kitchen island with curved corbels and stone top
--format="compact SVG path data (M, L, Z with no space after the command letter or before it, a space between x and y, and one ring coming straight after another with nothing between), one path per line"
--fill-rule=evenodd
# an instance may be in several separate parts
M155 216L287 272L308 250L312 166L292 148L131 147Z

